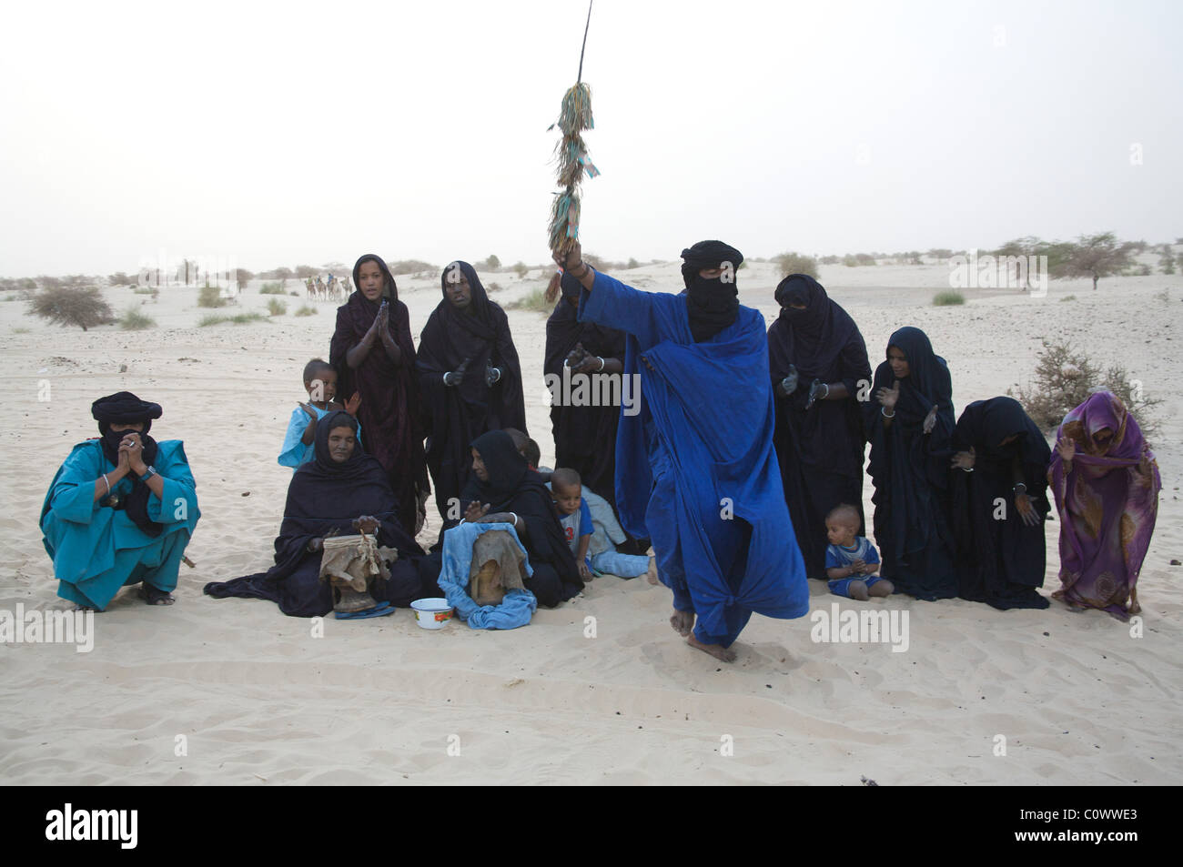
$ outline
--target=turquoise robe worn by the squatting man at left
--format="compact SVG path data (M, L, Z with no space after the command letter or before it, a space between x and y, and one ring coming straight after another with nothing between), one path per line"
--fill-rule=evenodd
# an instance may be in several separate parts
M201 513L183 445L180 440L156 445L154 466L164 483L163 500L156 494L148 498L148 517L164 525L156 538L122 509L101 506L95 499L95 479L115 470L101 440L75 446L53 477L41 506L41 543L53 559L62 599L103 610L125 584L176 588L181 557ZM131 480L121 479L114 491L127 497Z

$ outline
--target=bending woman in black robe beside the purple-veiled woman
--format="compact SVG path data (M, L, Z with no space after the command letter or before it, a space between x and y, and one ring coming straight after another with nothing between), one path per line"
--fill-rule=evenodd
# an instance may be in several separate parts
M1039 426L1014 397L974 401L953 428L952 516L962 599L1047 608L1043 520L1052 460Z

